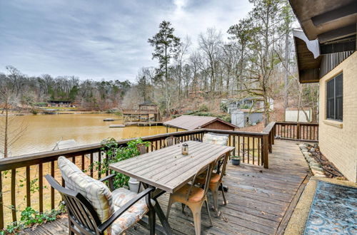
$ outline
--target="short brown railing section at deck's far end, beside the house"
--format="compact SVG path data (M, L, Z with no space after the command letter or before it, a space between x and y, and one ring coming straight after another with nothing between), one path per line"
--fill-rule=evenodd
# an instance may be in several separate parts
M318 141L318 123L276 122L275 130L282 139Z

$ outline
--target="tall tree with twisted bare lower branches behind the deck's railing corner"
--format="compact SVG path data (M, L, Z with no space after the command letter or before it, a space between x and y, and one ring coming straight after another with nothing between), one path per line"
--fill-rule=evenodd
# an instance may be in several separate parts
M243 83L243 92L249 93L256 101L263 101L264 125L270 122L271 97L273 96L273 75L276 68L278 41L276 27L281 0L251 0L254 4L250 13L253 28L249 29L248 74ZM248 30L248 28L247 28Z

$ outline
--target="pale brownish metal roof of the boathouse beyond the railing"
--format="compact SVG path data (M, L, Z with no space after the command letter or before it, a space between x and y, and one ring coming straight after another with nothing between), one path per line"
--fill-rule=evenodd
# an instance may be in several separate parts
M192 116L192 115L182 115L180 117L176 117L173 120L169 120L164 122L164 125L168 125L171 127L181 128L185 130L194 130L208 125L211 122L222 122L226 125L230 125L235 128L236 126L225 122L218 117L204 117L204 116Z

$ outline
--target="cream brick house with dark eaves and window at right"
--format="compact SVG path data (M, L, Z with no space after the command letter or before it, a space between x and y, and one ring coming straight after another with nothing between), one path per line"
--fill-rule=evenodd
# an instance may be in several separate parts
M289 0L300 83L319 83L318 144L343 175L357 179L357 1Z

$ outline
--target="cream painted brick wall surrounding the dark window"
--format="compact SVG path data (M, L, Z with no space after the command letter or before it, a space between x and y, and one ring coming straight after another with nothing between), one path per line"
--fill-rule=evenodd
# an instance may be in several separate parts
M326 81L343 73L343 122L326 120ZM319 145L350 181L357 178L357 52L320 79Z

